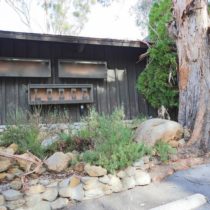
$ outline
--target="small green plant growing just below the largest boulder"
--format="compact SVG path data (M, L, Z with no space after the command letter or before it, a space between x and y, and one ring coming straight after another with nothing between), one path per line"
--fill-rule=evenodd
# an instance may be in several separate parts
M175 154L176 149L172 148L169 144L159 141L154 147L157 155L160 157L162 162L167 162L169 160L170 154Z

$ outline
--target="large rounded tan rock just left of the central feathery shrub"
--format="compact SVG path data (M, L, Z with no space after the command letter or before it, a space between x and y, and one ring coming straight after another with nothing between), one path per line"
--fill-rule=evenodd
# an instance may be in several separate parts
M49 170L61 172L68 167L69 160L68 155L63 152L56 152L45 161L45 164Z

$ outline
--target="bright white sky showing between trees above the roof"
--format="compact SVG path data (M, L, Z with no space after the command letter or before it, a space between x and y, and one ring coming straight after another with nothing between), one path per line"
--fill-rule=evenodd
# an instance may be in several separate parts
M91 8L88 22L79 36L114 38L126 40L141 40L140 29L135 24L135 16L132 15L131 7L137 0L124 0L114 2L109 7L96 4ZM42 33L43 16L34 7L32 10L33 31ZM28 28L20 21L18 15L5 3L0 0L0 30L29 32ZM143 31L144 32L144 31ZM146 34L146 30L145 30Z

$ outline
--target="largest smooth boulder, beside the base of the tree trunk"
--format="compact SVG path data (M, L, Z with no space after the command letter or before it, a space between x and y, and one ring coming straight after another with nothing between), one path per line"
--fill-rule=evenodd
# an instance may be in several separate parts
M171 141L182 138L183 128L175 122L165 119L149 119L137 128L134 139L138 143L154 146L159 140L170 144Z

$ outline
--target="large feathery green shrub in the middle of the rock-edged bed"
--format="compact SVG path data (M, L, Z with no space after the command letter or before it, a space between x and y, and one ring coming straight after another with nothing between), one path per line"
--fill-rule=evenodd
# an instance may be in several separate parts
M84 153L84 161L113 172L150 153L150 149L145 145L132 141L132 130L123 122L122 109L114 111L111 116L98 115L95 111L91 115L96 118L92 118L86 129L94 130L93 149Z

